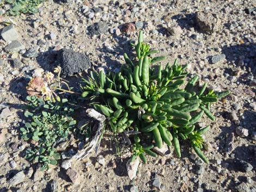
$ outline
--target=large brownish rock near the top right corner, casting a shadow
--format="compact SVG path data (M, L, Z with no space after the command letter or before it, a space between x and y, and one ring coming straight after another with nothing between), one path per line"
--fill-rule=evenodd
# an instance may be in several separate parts
M199 28L204 32L214 32L221 24L217 14L212 14L209 11L198 11L196 13L196 21Z

